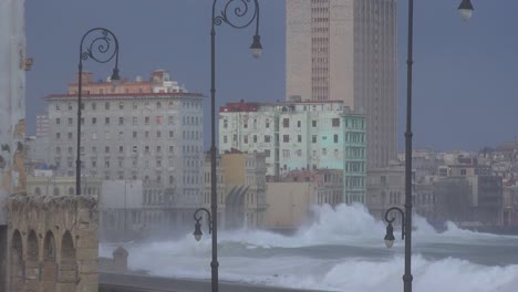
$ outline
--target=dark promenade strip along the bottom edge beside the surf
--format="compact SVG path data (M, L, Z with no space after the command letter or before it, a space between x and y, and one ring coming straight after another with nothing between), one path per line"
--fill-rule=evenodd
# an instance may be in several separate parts
M219 281L225 292L317 292ZM173 279L142 274L101 272L100 292L210 292L210 280ZM322 291L320 291L322 292Z

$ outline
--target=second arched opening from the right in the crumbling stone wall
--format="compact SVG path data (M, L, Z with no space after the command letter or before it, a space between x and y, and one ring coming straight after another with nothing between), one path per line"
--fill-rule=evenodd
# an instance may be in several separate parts
M58 265L55 262L55 239L52 231L46 231L43 241L43 264L41 270L42 292L55 291L55 279L58 275Z

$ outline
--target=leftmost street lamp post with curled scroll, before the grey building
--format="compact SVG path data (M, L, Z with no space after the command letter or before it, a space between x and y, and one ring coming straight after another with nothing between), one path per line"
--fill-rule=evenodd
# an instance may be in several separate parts
M86 44L84 42L86 41ZM112 48L113 44L113 48ZM75 160L75 194L81 195L81 111L83 90L83 61L92 59L97 63L107 63L115 58L115 67L111 82L114 86L121 80L118 76L118 41L115 34L104 28L89 30L81 39L80 62L77 75L77 157Z

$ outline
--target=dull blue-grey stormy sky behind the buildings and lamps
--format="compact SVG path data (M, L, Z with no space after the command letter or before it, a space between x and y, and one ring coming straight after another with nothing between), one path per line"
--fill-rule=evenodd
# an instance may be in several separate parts
M472 1L475 12L468 22L458 17L460 0L415 1L414 147L476 150L518 136L518 1ZM211 2L27 0L28 55L35 61L27 74L29 133L33 134L35 113L44 107L42 97L65 92L73 81L81 36L95 27L116 34L121 75L147 77L153 70L165 69L190 92L209 96ZM251 27L217 28L218 105L284 98L284 1L260 0L260 6L261 59L249 53ZM398 6L403 149L407 1ZM112 69L113 64L84 63L96 79Z

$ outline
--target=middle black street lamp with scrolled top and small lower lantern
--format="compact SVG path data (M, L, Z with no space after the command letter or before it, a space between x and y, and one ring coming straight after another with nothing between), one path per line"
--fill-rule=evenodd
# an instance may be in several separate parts
M213 18L210 30L210 213L213 233L213 261L211 269L211 291L218 291L218 197L217 197L217 174L216 174L216 27L226 23L235 29L245 29L256 22L256 34L253 35L250 51L253 58L259 58L262 53L261 36L259 35L259 3L257 0L226 0L219 12L216 11L216 3L213 2ZM199 209L198 209L199 210ZM196 212L198 211L196 210ZM206 210L206 209L205 209ZM195 220L196 220L195 212ZM199 227L199 220L196 221ZM197 229L201 236L201 230Z

